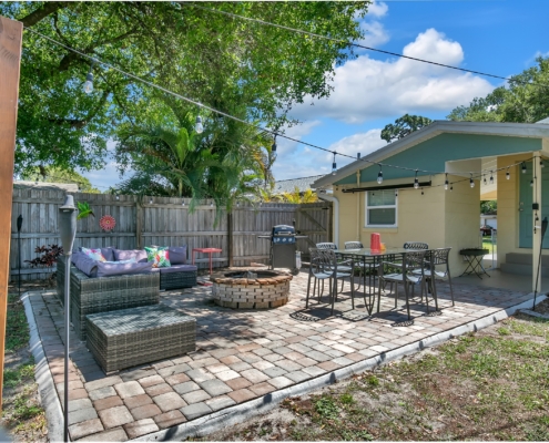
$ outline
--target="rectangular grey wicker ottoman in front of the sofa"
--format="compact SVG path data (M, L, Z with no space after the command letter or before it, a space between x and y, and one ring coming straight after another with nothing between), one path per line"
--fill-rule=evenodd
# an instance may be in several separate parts
M164 305L87 316L88 349L105 373L194 351L196 319Z

